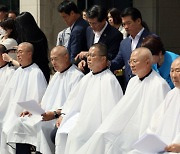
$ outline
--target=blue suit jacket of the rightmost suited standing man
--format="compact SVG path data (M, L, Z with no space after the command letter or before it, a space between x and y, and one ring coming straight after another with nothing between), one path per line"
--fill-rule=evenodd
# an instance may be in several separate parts
M152 33L149 32L147 29L144 29L136 48L140 47L142 40L150 34L152 34ZM131 72L131 68L128 64L128 60L130 59L131 53L132 53L131 39L129 37L127 37L120 43L119 52L118 52L116 58L111 61L110 69L112 71L121 69L121 68L123 68L123 66L125 66L125 72L124 72L125 87L127 86L127 83L130 80L130 78L133 76L132 72Z

